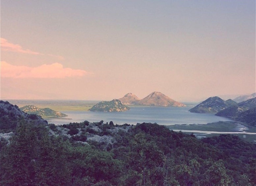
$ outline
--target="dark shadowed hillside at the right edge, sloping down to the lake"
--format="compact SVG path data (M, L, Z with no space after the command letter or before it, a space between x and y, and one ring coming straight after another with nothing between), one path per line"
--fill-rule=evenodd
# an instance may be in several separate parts
M228 117L256 126L256 97L219 111L216 116Z

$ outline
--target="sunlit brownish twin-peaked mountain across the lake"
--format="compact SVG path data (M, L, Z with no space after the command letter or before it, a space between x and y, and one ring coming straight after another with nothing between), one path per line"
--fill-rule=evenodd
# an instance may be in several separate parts
M132 93L127 93L119 100L125 105L163 106L163 107L185 107L183 103L175 101L160 92L153 92L143 99L139 99Z

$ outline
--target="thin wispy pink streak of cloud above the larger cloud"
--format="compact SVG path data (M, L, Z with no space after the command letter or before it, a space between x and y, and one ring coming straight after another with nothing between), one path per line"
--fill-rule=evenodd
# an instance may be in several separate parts
M42 54L39 52L31 51L29 49L23 49L18 44L13 44L4 38L0 38L0 39L1 39L1 50L3 50L3 51L11 51L11 52L24 53L24 54L34 54L34 55L48 55L48 56L52 56L52 57L57 57L59 60L64 59L62 56L57 56L57 55L52 55L52 54Z

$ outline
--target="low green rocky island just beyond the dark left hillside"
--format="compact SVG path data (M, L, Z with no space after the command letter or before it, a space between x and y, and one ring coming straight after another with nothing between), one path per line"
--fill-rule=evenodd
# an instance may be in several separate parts
M36 114L36 115L42 116L43 118L68 116L68 115L60 113L58 111L54 111L50 108L40 109L34 105L26 105L24 107L21 107L20 110L22 110L23 112L28 113L28 114Z

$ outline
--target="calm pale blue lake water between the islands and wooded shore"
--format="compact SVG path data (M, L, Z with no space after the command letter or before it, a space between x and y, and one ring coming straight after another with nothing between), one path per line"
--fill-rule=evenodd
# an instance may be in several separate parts
M65 118L50 118L48 123L67 124L70 122L82 122L88 120L97 122L113 121L114 124L136 124L142 122L158 123L160 125L174 124L207 124L216 121L231 121L214 114L190 113L192 107L136 107L130 106L126 112L90 112L90 111L61 111L67 114Z

